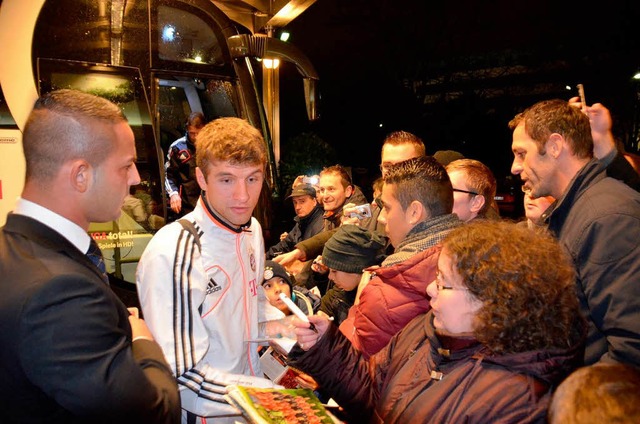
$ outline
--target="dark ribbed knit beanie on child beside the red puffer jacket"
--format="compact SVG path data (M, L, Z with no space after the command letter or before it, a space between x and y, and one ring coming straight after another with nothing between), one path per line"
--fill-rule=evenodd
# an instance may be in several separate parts
M336 270L361 274L362 270L380 263L385 240L357 225L343 225L325 243L323 265Z

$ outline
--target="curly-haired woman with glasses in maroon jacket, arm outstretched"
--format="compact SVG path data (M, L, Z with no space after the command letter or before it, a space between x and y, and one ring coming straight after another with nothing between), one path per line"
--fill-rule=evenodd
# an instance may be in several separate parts
M357 422L545 422L552 390L580 365L574 271L550 236L477 221L443 242L432 310L365 361L337 328L296 322L291 364Z

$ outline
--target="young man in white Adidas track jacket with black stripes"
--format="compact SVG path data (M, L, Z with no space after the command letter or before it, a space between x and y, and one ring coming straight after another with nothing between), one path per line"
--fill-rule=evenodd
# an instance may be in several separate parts
M239 411L224 400L225 386L273 386L250 342L264 321L264 241L251 215L266 150L260 133L238 118L207 124L196 146L202 195L183 218L191 225L158 231L136 282L144 317L178 380L183 422L234 422Z

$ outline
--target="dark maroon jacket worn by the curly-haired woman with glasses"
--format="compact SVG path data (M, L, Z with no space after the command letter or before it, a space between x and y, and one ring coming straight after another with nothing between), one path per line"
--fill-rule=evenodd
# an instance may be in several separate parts
M357 422L543 423L582 346L493 355L472 336L436 335L429 312L368 361L335 326L289 358Z

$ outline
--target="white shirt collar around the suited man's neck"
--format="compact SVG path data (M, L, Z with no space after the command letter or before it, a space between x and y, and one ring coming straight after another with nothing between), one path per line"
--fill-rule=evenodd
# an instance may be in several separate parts
M60 233L60 235L69 240L82 253L86 253L89 250L89 242L91 241L89 234L79 225L50 209L19 197L13 213L33 218Z

